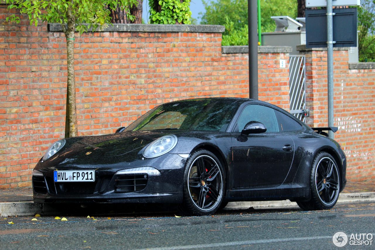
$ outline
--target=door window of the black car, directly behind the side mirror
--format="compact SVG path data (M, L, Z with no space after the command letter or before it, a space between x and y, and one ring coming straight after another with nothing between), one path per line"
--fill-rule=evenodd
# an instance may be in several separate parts
M257 104L248 105L244 108L237 121L234 131L241 132L246 123L253 120L263 123L266 126L268 133L279 132L275 110L273 108Z

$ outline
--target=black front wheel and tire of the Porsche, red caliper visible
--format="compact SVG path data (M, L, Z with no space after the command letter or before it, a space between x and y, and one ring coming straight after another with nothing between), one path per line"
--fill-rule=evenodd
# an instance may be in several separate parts
M210 151L193 152L186 161L181 210L188 215L211 215L225 193L225 172Z

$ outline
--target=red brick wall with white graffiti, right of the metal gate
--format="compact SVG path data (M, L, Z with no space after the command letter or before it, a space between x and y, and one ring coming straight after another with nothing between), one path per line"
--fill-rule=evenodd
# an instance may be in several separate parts
M328 126L327 51L309 50L306 55L307 108L312 127ZM375 69L349 69L348 51L334 51L335 133L347 156L349 181L375 179Z

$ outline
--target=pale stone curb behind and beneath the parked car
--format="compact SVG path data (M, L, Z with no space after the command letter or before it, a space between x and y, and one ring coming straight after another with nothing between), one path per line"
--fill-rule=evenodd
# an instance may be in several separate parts
M375 201L375 192L341 193L338 203ZM298 206L290 200L257 201L257 202L229 202L225 210L248 208L290 208ZM0 202L0 217L6 216L34 216L43 213L43 205L30 202Z

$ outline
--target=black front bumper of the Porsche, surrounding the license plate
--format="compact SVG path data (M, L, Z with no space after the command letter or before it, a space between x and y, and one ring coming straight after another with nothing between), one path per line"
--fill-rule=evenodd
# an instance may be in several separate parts
M98 165L41 166L35 169L43 176L33 176L35 203L181 203L186 159L169 154L168 159L152 159L147 166L160 175L121 174L119 168ZM159 163L159 165L155 164ZM126 164L139 167L139 164ZM138 166L137 166L138 165ZM54 170L95 170L95 182L54 182ZM139 181L140 180L140 181ZM124 185L127 186L124 188Z

